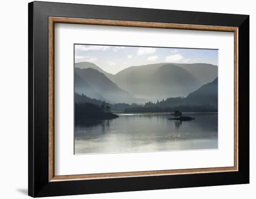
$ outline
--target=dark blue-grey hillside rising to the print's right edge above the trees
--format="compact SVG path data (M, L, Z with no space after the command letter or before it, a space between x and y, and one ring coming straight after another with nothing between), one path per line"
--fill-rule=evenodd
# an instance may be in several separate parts
M187 104L210 104L218 106L218 78L210 83L201 86L190 93L185 99Z

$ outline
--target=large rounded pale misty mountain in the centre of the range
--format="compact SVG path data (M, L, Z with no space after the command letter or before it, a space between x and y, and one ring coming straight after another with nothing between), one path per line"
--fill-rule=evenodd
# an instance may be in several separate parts
M202 86L188 70L162 63L126 68L115 74L113 81L129 93L150 100L186 96Z

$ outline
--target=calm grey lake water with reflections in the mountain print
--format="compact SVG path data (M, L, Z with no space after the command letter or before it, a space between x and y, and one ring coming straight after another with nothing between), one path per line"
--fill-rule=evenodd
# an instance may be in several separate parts
M218 148L218 115L183 113L191 121L168 120L166 113L119 114L119 118L75 125L74 153L125 153Z

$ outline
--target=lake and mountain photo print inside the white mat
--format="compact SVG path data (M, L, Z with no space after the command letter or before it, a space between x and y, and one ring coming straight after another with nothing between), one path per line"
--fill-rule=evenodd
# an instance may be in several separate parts
M74 44L74 154L217 148L217 49Z

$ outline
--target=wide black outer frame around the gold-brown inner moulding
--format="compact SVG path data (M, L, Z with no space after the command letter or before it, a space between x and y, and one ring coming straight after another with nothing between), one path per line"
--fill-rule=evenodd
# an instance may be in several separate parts
M238 27L238 171L48 181L48 17ZM249 183L249 15L34 1L28 4L28 195L63 196Z

